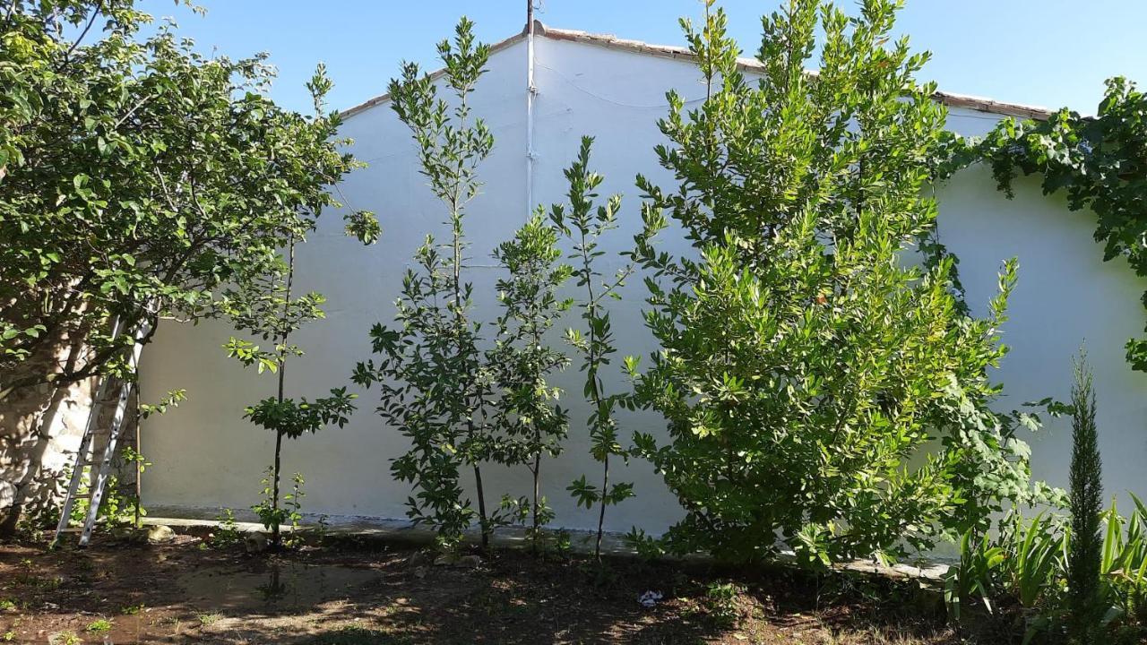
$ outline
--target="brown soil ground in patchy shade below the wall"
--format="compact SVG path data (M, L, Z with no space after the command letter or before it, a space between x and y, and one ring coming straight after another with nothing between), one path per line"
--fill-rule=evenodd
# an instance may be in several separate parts
M916 581L340 544L248 554L177 536L0 545L0 642L955 644ZM654 599L643 606L647 591Z

